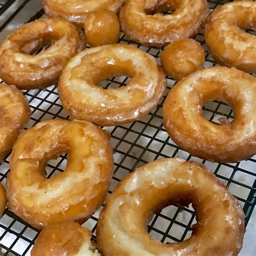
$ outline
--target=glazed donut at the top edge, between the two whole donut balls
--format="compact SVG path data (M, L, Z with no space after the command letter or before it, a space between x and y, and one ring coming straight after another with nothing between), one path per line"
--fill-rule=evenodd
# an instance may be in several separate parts
M172 15L149 15L159 5L175 10ZM127 0L120 11L121 28L131 40L160 47L193 37L209 15L207 0Z

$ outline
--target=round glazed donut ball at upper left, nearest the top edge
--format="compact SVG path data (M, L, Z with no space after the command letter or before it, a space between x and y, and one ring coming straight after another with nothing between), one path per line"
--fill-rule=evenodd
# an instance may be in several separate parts
M84 32L92 47L116 44L120 36L118 17L106 9L90 12L84 23Z

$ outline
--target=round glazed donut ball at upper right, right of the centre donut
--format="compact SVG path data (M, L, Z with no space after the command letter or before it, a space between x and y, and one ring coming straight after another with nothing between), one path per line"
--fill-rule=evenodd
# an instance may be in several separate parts
M185 38L169 44L161 55L165 73L178 81L202 69L205 63L204 48L194 39Z

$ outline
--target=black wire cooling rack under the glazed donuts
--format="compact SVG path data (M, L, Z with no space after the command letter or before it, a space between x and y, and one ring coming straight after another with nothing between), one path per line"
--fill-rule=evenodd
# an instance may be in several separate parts
M44 16L41 0L0 0L0 32L2 41L9 33L26 22L33 21ZM210 8L214 9L229 1L208 1ZM248 31L254 33L253 31ZM254 33L255 35L255 33ZM199 33L195 39L199 41L206 50L205 67L214 66L212 57L208 54L203 33ZM147 48L145 46L129 41L124 35L120 37L120 43L133 44L142 49L159 61L163 49ZM255 74L254 74L255 75ZM100 83L105 88L119 87L127 84L129 78L112 77ZM174 85L174 81L167 77L168 89ZM58 98L56 85L44 90L24 91L32 110L32 116L26 129L38 122L54 118L69 119L64 112ZM109 194L113 188L129 173L149 161L165 157L181 157L186 160L195 160L205 164L215 176L217 176L228 190L238 198L242 205L246 224L250 219L255 205L255 176L256 156L247 161L234 164L218 164L210 161L192 157L186 151L180 149L168 136L163 126L164 99L147 116L127 125L106 127L111 132L111 144L114 150L114 175L111 182ZM219 117L226 117L232 121L233 111L225 103L214 101L203 107L204 117L211 122L219 123ZM6 175L9 171L9 159L6 157L0 165L0 180L5 185ZM66 154L58 159L50 160L46 171L48 178L56 176L65 170ZM102 206L103 207L103 206ZM93 239L97 226L97 219L102 207L86 221L84 226L93 232ZM161 242L183 241L191 235L191 225L196 223L193 208L173 205L164 208L159 214L154 214L148 226L148 231L153 238ZM6 208L3 218L0 220L0 255L30 255L31 248L38 236L38 230L28 225Z

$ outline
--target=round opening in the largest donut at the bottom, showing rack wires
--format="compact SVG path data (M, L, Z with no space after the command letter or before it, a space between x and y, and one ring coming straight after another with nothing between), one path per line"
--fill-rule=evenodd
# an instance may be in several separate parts
M193 212L192 204L188 207L167 206L160 213L153 215L148 232L154 240L163 244L185 241L192 235L191 226L197 223Z

